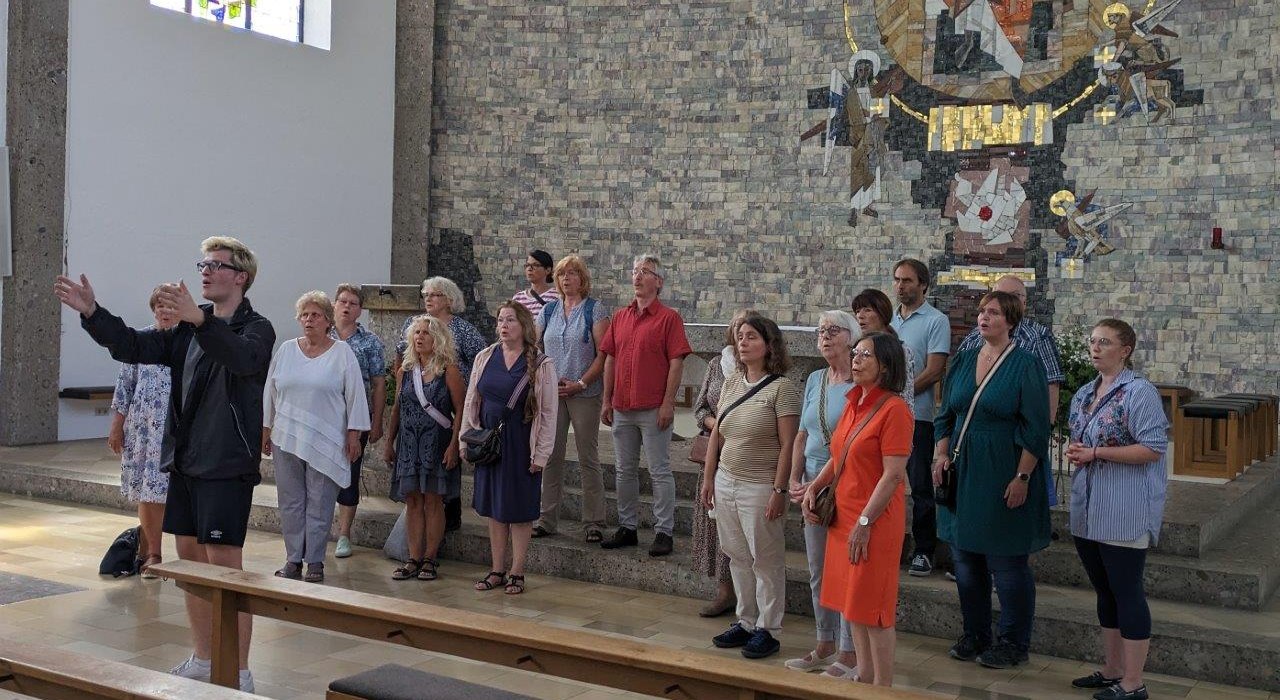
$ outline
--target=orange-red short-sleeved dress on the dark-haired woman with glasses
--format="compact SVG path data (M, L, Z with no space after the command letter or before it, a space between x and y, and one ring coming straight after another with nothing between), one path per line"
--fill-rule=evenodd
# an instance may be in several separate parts
M831 454L838 459L854 427L876 406L883 389L850 389L845 412L831 438ZM859 402L861 404L859 406ZM868 557L849 562L849 534L884 473L883 457L911 454L915 420L900 397L891 395L879 412L859 433L849 449L836 484L836 520L827 531L827 559L822 573L823 607L840 610L850 622L869 627L892 627L897 610L899 561L906 536L905 485L899 484L888 507L872 523Z

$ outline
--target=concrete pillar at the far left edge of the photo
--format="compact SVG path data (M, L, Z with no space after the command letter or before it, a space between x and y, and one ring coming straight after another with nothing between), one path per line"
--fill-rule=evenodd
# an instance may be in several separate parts
M9 0L13 276L0 322L0 444L58 439L67 164L68 0Z

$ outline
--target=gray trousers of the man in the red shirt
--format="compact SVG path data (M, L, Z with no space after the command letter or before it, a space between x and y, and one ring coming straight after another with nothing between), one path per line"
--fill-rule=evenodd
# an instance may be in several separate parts
M671 429L658 427L658 410L614 411L613 452L617 456L618 525L640 522L640 448L653 480L653 529L671 535L676 525L676 476L671 473Z

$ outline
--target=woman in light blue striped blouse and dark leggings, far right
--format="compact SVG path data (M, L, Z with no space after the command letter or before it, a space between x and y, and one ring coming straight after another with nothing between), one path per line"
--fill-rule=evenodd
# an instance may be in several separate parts
M1098 378L1071 399L1071 535L1098 595L1105 653L1101 671L1071 685L1101 688L1100 700L1147 697L1151 610L1142 575L1165 509L1169 421L1160 392L1132 369L1135 344L1129 324L1100 321L1089 334Z

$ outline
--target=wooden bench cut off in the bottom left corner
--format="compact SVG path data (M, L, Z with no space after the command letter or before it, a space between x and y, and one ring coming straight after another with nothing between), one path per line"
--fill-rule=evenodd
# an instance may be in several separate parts
M237 672L238 673L238 672ZM247 700L239 690L0 639L0 690L50 700Z

